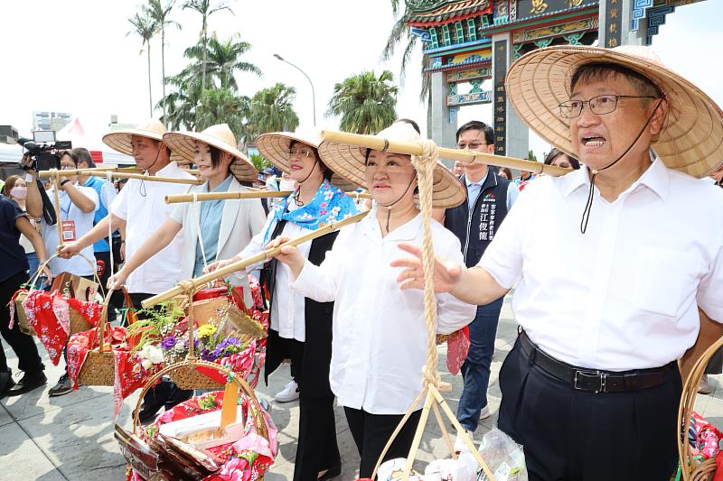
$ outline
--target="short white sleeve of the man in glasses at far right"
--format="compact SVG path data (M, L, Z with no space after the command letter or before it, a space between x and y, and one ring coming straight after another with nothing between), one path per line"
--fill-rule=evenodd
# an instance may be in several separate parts
M522 236L524 227L534 215L536 192L540 182L530 182L504 217L500 230L487 246L477 266L492 275L504 289L512 289L522 277Z

